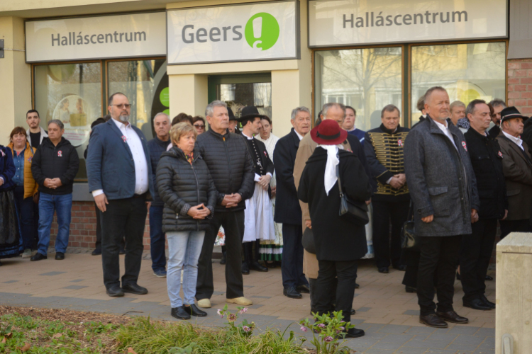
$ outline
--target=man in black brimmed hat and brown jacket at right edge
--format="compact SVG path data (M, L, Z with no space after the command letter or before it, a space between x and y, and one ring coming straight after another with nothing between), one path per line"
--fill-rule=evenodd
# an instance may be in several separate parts
M510 232L530 232L532 200L532 157L523 142L523 122L528 118L515 107L501 110L501 132L497 137L506 180L508 217L501 220L501 239Z

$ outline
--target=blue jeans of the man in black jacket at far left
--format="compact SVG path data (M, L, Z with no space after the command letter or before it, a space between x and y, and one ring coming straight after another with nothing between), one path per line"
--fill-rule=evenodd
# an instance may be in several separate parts
M65 253L70 234L70 215L72 210L72 193L52 195L40 193L39 197L39 246L38 252L43 256L48 253L50 246L50 227L54 211L57 212L57 237L55 251Z

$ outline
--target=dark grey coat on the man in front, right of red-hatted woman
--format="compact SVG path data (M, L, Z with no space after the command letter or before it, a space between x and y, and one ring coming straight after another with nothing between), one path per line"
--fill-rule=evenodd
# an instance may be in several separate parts
M480 207L465 137L447 121L457 149L432 119L416 125L404 143L406 182L419 236L470 234L471 209ZM421 221L430 215L433 222Z

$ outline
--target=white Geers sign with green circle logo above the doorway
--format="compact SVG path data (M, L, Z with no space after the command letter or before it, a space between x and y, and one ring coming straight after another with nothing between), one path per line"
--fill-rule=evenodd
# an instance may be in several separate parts
M299 57L297 1L167 12L168 64Z

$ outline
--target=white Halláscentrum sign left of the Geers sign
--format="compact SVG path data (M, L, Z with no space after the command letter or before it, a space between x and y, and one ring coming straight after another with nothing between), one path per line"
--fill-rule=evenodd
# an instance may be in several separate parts
M26 62L166 55L165 13L26 22Z

